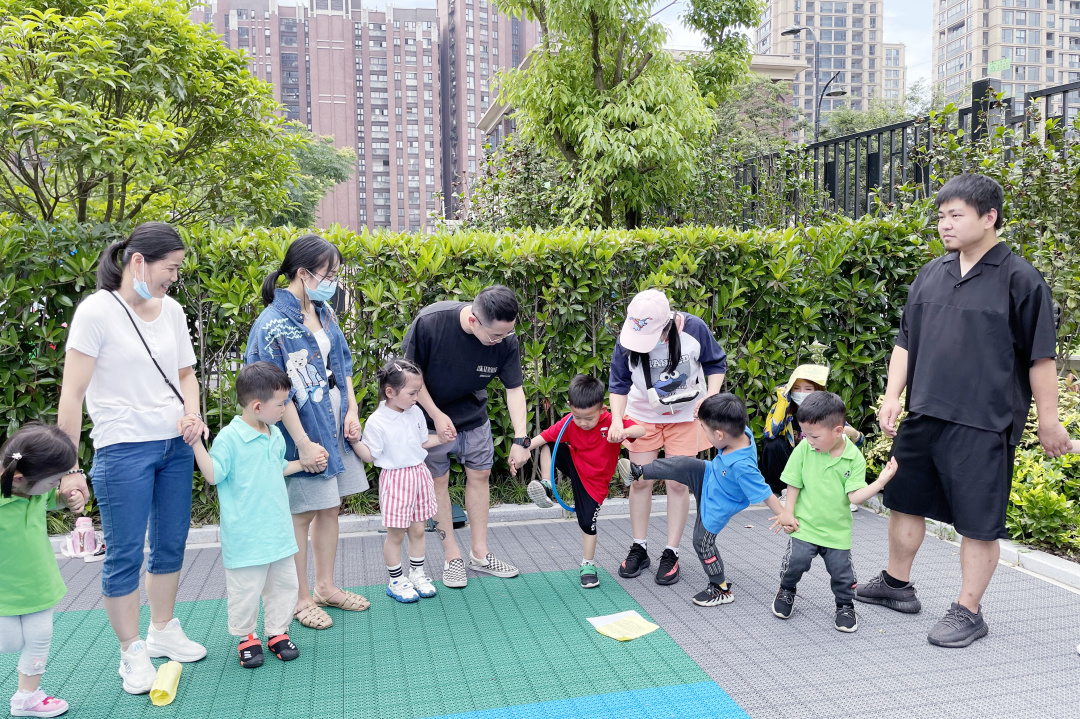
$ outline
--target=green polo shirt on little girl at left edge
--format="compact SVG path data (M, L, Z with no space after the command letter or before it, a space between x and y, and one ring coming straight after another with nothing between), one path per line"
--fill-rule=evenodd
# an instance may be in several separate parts
M40 612L67 594L45 530L56 490L26 499L0 497L0 616Z

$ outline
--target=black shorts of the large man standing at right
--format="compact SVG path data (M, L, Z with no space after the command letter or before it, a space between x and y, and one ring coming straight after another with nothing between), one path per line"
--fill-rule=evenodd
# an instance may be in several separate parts
M950 524L961 537L1005 539L1015 453L1008 431L909 415L892 443L899 466L885 505Z

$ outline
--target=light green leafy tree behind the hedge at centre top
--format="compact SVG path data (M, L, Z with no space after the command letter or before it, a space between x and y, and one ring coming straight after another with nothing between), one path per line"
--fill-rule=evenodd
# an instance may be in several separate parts
M500 76L525 140L572 181L567 217L629 228L693 177L712 124L690 71L662 49L648 0L500 0L540 25L526 69Z

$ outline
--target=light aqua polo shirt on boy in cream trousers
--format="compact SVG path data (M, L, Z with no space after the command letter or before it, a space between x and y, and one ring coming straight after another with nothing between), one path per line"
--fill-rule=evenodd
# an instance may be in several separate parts
M239 415L210 450L221 507L226 569L255 567L298 552L285 489L285 438L276 426L259 432Z

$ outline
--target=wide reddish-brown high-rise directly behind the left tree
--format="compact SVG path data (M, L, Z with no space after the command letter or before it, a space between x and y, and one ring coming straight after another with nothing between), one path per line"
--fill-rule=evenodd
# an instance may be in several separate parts
M247 52L284 114L353 148L353 178L319 206L319 223L420 231L441 212L440 29L434 9L359 0L213 0L193 18Z

